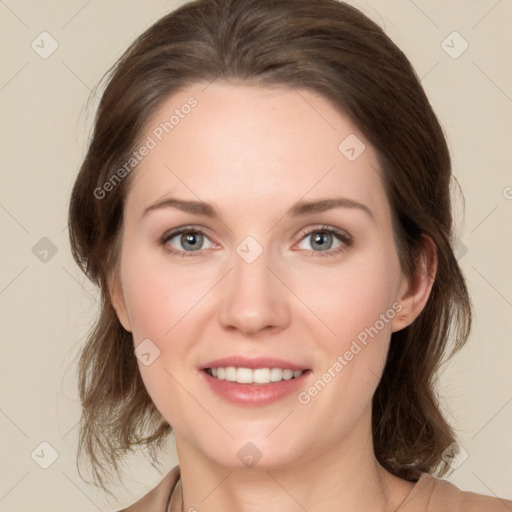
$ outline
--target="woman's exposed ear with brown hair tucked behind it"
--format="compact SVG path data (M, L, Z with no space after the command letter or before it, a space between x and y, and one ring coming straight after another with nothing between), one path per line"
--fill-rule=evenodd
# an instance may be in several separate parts
M422 235L423 247L416 262L412 279L403 276L397 300L402 309L391 321L392 332L399 331L411 324L423 311L430 296L437 273L437 249L434 241Z

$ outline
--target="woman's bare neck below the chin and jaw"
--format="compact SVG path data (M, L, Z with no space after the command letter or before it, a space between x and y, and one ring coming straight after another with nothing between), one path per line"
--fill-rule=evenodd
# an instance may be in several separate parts
M175 433L183 510L260 512L264 504L265 512L393 512L414 484L376 460L368 411L366 428L356 425L328 451L275 467L219 465Z

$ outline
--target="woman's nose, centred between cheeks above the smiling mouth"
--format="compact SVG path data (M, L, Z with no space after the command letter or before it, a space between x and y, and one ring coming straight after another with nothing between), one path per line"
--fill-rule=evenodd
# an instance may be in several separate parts
M233 268L224 280L219 321L225 329L246 335L278 331L290 321L290 292L277 277L265 251L248 263L233 255Z

